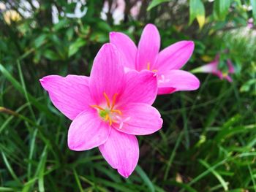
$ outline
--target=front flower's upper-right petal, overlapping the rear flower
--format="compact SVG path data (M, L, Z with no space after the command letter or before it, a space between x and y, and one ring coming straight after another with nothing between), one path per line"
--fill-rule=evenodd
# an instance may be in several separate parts
M127 72L126 87L118 104L138 102L153 104L157 97L157 76L153 72L143 70Z

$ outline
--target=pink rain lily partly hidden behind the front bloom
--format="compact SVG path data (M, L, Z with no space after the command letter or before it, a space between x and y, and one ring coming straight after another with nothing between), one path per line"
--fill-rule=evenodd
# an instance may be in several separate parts
M199 88L200 82L195 75L181 69L194 50L191 41L176 42L159 53L160 36L157 27L148 24L143 29L138 47L125 34L110 33L110 42L118 47L124 56L125 71L143 69L157 75L158 94L176 91L192 91Z

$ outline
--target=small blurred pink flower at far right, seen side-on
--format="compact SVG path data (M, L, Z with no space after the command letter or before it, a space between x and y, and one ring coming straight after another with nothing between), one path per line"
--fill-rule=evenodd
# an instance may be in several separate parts
M217 75L219 79L227 80L229 82L232 82L232 78L230 77L230 74L235 73L235 68L230 61L230 59L227 59L227 72L222 72L222 70L219 69L219 54L216 55L214 61L211 61L209 64L199 66L195 69L193 69L191 72L192 73L210 73Z

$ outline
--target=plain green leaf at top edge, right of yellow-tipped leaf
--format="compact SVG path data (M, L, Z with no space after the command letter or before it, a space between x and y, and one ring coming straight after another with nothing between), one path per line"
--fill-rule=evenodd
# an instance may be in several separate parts
M225 20L228 9L230 8L231 0L216 0L214 1L214 15L218 20Z

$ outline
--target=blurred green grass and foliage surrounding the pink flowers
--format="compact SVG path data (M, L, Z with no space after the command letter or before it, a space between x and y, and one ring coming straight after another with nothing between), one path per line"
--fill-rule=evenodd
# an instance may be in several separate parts
M256 1L0 1L0 191L256 191ZM162 48L191 39L192 70L220 54L233 82L197 74L198 91L159 96L161 131L138 137L124 180L97 149L67 147L70 121L39 85L89 75L110 31L138 42L154 23Z

